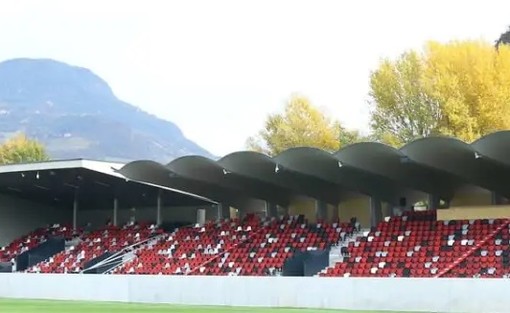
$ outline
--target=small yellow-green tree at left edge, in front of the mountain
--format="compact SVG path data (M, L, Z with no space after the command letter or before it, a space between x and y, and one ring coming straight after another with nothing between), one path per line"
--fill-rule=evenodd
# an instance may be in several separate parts
M0 164L40 162L49 160L46 149L39 142L18 134L0 145Z

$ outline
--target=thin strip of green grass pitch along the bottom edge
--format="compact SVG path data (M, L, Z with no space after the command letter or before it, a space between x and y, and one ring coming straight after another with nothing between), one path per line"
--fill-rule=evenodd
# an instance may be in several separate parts
M99 302L71 302L44 300L0 299L1 313L347 313L337 310L270 309L270 308L232 308L232 307L191 307L176 305L124 304ZM351 313L353 313L351 311ZM361 312L356 313L375 313ZM385 312L391 313L391 312ZM395 313L395 312L394 312Z

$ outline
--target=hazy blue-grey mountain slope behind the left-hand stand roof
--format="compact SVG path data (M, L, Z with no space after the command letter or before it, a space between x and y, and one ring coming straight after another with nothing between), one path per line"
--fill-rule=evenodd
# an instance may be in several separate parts
M118 99L90 70L49 59L0 63L0 140L19 131L55 159L212 157L174 123Z

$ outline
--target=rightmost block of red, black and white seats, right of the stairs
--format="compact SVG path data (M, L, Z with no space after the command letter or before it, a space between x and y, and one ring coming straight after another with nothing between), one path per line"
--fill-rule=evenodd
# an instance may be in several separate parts
M507 220L436 221L432 210L408 212L351 243L349 257L320 275L501 277L510 272L503 270L509 237Z

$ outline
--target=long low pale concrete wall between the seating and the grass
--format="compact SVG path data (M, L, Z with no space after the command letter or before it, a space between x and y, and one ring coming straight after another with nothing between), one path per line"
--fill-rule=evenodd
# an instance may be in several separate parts
M510 312L504 279L0 274L0 298L423 312Z

